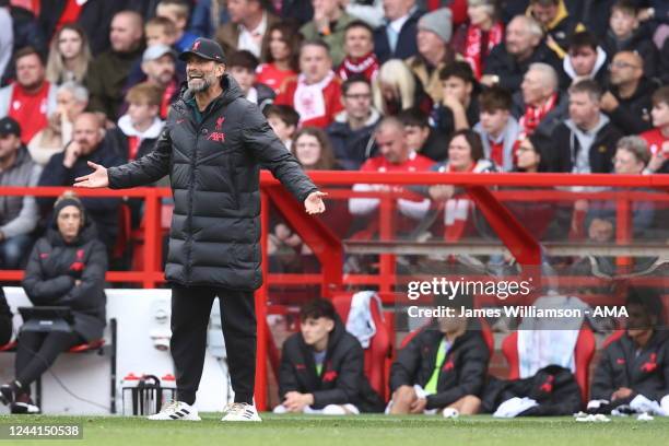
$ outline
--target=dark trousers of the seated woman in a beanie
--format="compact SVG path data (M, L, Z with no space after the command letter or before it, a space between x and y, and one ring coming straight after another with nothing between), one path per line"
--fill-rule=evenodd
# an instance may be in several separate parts
M82 342L83 339L73 332L22 331L16 345L16 380L30 394L30 385L54 365L60 353Z

